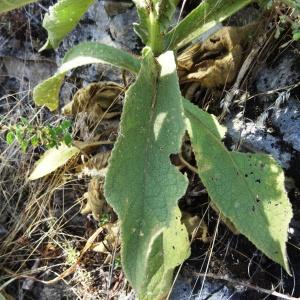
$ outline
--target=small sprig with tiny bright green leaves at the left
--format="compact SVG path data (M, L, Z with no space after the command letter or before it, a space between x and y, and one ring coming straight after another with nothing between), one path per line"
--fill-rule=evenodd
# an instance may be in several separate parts
M23 152L28 146L45 146L47 149L58 147L61 143L71 145L72 136L70 130L72 123L69 120L60 122L57 126L52 125L32 125L28 119L21 117L21 120L6 126L6 142L11 145L17 141Z

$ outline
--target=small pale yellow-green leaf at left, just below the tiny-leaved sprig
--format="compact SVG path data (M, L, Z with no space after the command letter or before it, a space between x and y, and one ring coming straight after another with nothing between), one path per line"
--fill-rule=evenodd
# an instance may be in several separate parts
M36 162L29 180L36 180L44 177L59 167L66 164L72 157L78 154L80 150L74 146L61 144L58 148L47 150L43 156Z

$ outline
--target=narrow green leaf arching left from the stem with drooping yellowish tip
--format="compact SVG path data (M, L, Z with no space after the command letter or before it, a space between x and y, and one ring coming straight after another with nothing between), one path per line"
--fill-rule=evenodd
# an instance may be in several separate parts
M37 105L45 105L50 110L57 109L59 92L66 72L92 63L111 64L133 73L137 73L140 69L139 59L125 51L95 42L84 42L65 55L63 64L52 77L34 88L34 102Z

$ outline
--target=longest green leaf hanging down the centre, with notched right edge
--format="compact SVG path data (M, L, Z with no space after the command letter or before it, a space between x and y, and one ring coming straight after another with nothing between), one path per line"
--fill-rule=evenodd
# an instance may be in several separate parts
M153 282L161 283L159 291L170 288L171 270L188 254L186 230L170 231L187 187L169 158L180 150L185 130L180 95L173 53L156 61L147 48L137 81L126 93L105 180L106 199L121 221L123 268L142 299L156 299L148 295ZM172 246L184 253L167 249L165 239L178 242Z

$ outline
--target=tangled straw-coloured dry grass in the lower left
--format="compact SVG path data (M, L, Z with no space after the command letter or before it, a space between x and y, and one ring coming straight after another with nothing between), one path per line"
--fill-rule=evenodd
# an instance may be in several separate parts
M16 108L22 101L15 97L14 102L5 114L5 124L15 122L20 114ZM43 124L43 109L22 103L21 110L32 123ZM51 117L47 124L55 125L61 118ZM22 153L17 143L10 146L5 143L5 133L1 133L0 161L0 220L4 233L0 248L0 290L6 287L20 297L26 291L22 284L30 278L48 281L76 264L74 271L63 278L75 299L110 299L112 294L122 292L126 283L114 261L104 265L105 257L92 251L77 261L78 253L98 224L80 214L83 203L76 199L85 191L87 181L74 175L76 161L47 178L30 182L28 176L41 149L29 148ZM29 294L36 293L33 286Z

